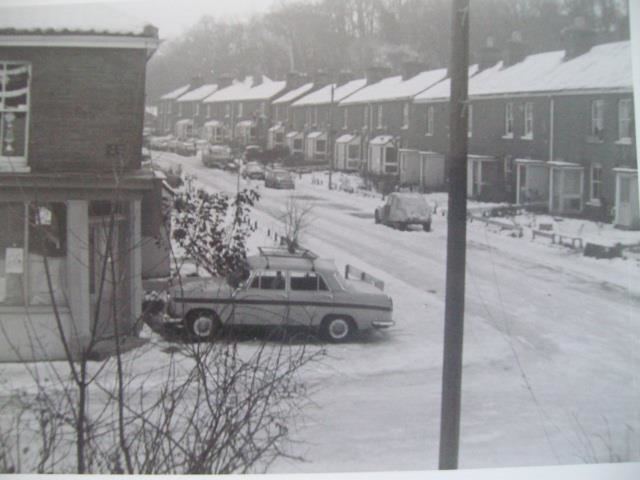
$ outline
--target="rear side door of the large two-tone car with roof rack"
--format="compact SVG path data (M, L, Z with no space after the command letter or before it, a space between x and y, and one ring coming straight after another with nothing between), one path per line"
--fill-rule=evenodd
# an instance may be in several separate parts
M316 272L289 272L289 323L299 326L320 325L331 312L333 294Z

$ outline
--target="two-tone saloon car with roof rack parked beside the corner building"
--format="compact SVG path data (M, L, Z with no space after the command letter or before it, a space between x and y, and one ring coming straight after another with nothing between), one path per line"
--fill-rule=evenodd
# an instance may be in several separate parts
M338 343L395 324L382 282L345 278L308 250L261 248L226 279L186 280L170 292L168 319L196 339L213 339L224 326L299 326Z

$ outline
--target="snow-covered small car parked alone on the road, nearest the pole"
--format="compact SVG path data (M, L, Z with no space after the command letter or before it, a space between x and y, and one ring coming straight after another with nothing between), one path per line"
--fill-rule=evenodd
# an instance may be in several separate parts
M390 193L384 205L376 208L374 219L399 230L422 225L425 232L431 231L431 207L419 193Z

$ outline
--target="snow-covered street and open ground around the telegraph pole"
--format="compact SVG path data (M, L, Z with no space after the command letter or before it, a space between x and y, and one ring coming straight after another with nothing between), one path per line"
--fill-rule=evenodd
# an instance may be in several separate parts
M235 191L235 175L197 158L154 156L206 188ZM262 198L251 246L274 241L267 230L280 228L290 195L313 204L303 244L339 269L350 263L384 280L397 322L328 346L326 360L307 372L316 406L294 430L300 443L291 453L307 462L279 460L270 472L437 468L446 195L429 197L440 207L432 232L400 232L374 224L380 196L330 191L322 173L298 178L293 192L261 184L253 182ZM640 460L638 262L468 226L461 468ZM624 233L640 242L637 232ZM149 366L166 354L145 355ZM1 366L0 374L26 381L19 369Z

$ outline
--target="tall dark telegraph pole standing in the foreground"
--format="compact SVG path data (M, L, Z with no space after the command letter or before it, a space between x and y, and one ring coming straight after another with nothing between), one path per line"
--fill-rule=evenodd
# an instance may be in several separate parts
M460 391L467 243L467 90L469 79L469 0L454 0L451 20L451 100L449 106L449 209L445 299L440 470L458 468Z

